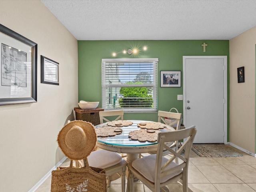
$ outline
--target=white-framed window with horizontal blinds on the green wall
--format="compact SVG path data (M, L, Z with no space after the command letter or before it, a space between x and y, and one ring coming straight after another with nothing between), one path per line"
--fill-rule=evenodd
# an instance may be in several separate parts
M102 108L157 111L158 58L102 59Z

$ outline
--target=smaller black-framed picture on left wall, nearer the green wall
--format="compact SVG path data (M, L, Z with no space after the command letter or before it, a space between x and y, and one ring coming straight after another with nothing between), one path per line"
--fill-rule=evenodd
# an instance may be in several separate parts
M59 63L42 55L41 83L59 85Z

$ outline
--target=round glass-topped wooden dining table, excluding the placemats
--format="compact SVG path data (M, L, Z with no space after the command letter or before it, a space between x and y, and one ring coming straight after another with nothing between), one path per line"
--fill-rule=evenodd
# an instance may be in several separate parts
M117 152L117 153L126 153L127 162L132 162L133 160L137 159L139 154L147 153L157 150L157 142L139 142L138 140L131 140L128 137L129 132L134 130L139 130L140 128L137 124L141 122L150 122L144 120L128 120L133 122L130 126L123 126L120 127L123 131L121 134L117 134L116 136L108 136L108 137L98 137L96 145L99 148L104 150ZM100 128L107 126L107 123L96 125L95 128ZM164 129L159 129L160 132L164 131L172 131L175 130L171 126L167 126Z

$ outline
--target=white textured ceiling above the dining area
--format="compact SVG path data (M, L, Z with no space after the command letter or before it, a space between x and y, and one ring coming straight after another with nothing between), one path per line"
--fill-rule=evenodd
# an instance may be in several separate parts
M230 40L256 0L41 0L77 40Z

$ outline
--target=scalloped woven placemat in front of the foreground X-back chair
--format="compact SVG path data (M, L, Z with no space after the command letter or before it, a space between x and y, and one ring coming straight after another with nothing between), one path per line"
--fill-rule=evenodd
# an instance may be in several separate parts
M131 140L138 140L139 142L156 142L159 130L146 130L140 129L131 131L128 134L128 137Z

